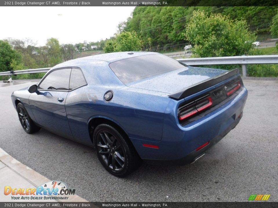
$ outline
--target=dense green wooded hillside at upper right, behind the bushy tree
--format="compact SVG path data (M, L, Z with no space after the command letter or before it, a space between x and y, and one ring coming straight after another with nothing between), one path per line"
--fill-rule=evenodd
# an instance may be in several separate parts
M200 3L202 4L202 3ZM149 48L148 38L151 38L151 48L169 50L183 48L184 33L194 11L204 11L210 14L223 14L233 21L246 21L247 28L259 34L261 41L268 36L271 19L277 12L277 7L252 6L252 7L212 7L212 6L189 6L189 7L136 7L132 17L126 21L124 28L118 25L122 31L136 31L142 37L143 49ZM248 45L251 44L247 43Z

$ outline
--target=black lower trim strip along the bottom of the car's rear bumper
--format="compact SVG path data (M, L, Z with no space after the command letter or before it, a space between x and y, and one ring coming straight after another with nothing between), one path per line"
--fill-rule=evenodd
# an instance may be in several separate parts
M204 146L202 149L196 151L193 150L191 153L186 155L183 158L175 159L175 160L159 160L159 159L143 159L145 162L150 164L159 164L159 165L185 165L190 164L198 159L200 159L202 156L206 154L206 151L208 151L213 145L215 145L217 142L222 140L227 133L229 133L233 128L236 127L236 125L239 123L239 120L242 118L243 112L241 113L240 117L233 122L231 126L229 126L227 129L225 129L220 135L217 135L215 138L209 141L209 144Z

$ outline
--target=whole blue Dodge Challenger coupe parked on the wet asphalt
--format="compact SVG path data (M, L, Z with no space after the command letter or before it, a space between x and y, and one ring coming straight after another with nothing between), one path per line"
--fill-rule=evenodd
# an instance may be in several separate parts
M111 174L149 162L196 161L242 117L238 70L187 66L153 52L79 58L12 93L27 133L40 127L94 146Z

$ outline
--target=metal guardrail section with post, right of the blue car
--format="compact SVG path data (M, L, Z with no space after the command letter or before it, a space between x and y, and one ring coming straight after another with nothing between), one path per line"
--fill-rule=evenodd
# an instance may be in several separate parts
M242 65L242 75L246 77L246 64L278 64L278 55L185 58L177 60L192 66L240 64Z

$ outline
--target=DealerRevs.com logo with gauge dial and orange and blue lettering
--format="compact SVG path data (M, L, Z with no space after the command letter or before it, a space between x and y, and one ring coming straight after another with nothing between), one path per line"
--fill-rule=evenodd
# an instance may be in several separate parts
M67 185L61 181L49 181L36 188L17 188L5 186L4 194L11 194L11 198L14 200L62 200L68 199L68 195L74 195L75 189L68 189Z

